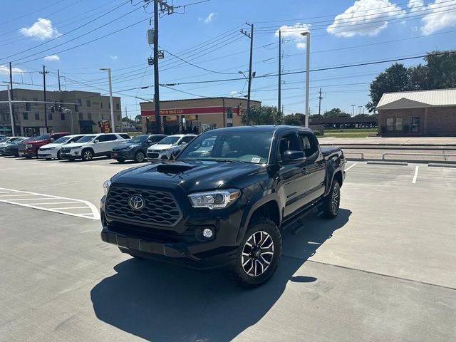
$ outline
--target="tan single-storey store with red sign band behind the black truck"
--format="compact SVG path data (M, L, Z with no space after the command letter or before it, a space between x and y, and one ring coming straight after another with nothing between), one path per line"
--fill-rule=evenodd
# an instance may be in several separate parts
M251 101L252 105L261 105ZM143 133L155 132L155 104L142 102ZM165 134L202 133L214 128L242 125L247 111L245 98L197 98L160 101L160 121Z

